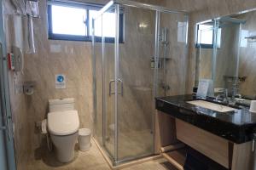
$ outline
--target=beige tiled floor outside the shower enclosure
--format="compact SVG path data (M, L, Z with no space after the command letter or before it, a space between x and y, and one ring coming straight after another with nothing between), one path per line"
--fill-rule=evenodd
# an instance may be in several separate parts
M142 164L137 164L131 167L125 167L123 170L176 170L164 159L154 161L146 161ZM27 165L26 170L110 170L108 163L104 160L100 150L96 144L87 152L76 152L76 159L69 164L57 163L55 156L44 151L42 159L32 161Z

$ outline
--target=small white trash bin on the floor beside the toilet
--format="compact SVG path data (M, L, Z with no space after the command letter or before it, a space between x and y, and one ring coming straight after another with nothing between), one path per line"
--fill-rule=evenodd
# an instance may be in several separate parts
M81 151L90 150L90 136L91 136L91 132L89 128L79 129L79 150Z

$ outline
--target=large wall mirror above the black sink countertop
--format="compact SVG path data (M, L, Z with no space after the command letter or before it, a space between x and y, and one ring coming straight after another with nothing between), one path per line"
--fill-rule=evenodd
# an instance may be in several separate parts
M195 87L212 79L214 92L256 99L256 11L196 24Z

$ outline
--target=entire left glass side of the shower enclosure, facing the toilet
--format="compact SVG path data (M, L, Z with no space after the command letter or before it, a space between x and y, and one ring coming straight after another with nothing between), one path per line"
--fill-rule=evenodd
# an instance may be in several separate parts
M110 157L114 157L114 45L106 42L108 20L113 13L109 9L98 16L93 25L93 68L94 68L94 110L95 138ZM114 17L114 15L113 15ZM107 32L108 34L108 32Z

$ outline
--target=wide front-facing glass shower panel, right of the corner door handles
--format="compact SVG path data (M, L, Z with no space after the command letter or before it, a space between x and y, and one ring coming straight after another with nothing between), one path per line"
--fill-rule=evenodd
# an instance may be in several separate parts
M122 7L125 42L119 43L119 160L153 153L155 11Z

